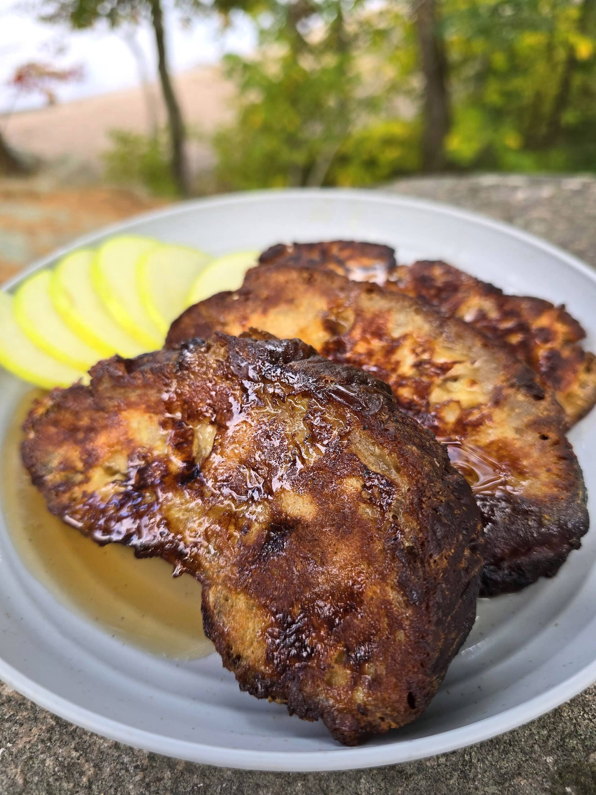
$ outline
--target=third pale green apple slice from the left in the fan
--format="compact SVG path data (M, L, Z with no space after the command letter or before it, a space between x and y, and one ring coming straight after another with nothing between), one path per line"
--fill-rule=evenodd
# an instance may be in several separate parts
M118 353L132 359L146 351L114 322L91 282L95 252L81 249L67 254L52 271L50 297L64 323L103 356Z

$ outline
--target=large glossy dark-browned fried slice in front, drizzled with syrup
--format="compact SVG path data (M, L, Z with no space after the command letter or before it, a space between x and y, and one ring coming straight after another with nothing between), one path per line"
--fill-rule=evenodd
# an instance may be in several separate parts
M219 334L91 376L25 423L52 513L195 576L243 690L347 744L420 715L474 622L482 521L389 388Z

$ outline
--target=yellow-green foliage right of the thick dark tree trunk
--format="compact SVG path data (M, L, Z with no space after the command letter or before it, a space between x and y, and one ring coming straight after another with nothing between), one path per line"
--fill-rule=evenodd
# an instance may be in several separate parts
M447 138L463 168L596 168L594 0L445 0L455 106Z

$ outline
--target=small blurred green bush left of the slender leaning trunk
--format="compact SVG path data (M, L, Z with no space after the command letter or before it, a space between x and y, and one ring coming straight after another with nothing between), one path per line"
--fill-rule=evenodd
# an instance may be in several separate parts
M111 130L111 148L103 154L106 178L111 182L146 188L157 196L176 196L169 165L169 134L157 136Z

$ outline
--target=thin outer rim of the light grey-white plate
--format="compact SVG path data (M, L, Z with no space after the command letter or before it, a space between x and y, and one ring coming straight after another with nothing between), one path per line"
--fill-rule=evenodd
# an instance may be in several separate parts
M543 238L532 235L509 223L492 219L481 213L454 207L450 204L432 200L418 199L403 194L395 194L388 190L366 190L358 188L277 188L271 190L250 191L242 193L228 193L222 196L207 197L179 202L172 207L161 207L157 210L134 215L130 219L112 223L94 231L89 235L75 238L66 246L53 251L44 258L37 259L32 265L21 269L14 277L2 285L2 289L14 289L25 277L47 267L56 259L83 246L92 245L108 235L114 235L130 230L139 222L153 219L167 219L168 216L181 215L195 211L200 207L226 206L230 204L250 204L254 201L265 199L269 196L278 196L280 200L288 198L304 198L304 196L328 196L332 200L364 200L377 204L390 204L394 207L415 207L422 210L451 216L474 223L477 226L490 228L509 237L517 238L529 245L536 247L551 256L559 259L586 276L596 286L596 270L573 254L545 241ZM355 770L365 767L411 762L415 759L427 758L436 754L444 754L451 750L469 747L501 735L514 728L528 723L546 712L563 704L573 696L596 681L596 659L584 666L572 677L549 688L539 696L534 696L528 701L517 704L497 715L483 718L465 726L450 729L437 735L430 735L418 739L409 739L395 743L386 743L381 746L362 745L355 748L333 748L319 751L270 751L270 750L244 750L223 746L208 746L204 743L195 743L189 740L172 739L156 732L126 726L109 718L98 715L87 708L82 708L73 701L56 696L51 690L37 684L35 681L20 673L13 666L8 665L0 657L0 679L10 688L22 696L29 698L35 704L48 709L71 723L83 727L87 731L102 735L126 745L141 748L157 754L164 754L173 758L185 759L190 762L199 762L215 766L237 768L242 770L277 770L288 772L322 772L330 770Z

